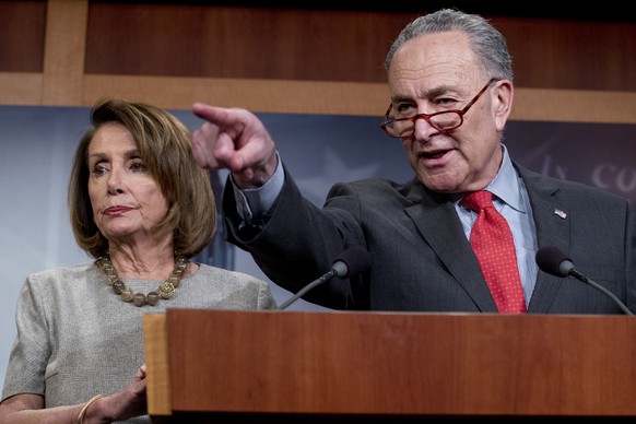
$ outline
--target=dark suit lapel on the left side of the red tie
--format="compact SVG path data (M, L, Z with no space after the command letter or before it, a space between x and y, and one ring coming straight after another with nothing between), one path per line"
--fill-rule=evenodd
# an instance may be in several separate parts
M420 229L425 243L431 246L481 311L497 313L452 201L445 196L426 193L424 187L419 184L414 186L409 198L414 204L407 208L405 212Z

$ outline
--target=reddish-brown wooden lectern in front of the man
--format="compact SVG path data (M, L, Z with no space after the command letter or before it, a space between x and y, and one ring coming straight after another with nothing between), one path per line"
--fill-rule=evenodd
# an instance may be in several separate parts
M143 326L160 423L636 417L634 317L168 309Z

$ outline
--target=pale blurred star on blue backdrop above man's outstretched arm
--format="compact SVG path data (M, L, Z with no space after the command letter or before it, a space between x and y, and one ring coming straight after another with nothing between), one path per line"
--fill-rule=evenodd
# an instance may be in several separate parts
M314 204L322 205L327 191L333 184L374 177L379 169L379 163L350 167L332 149L327 148L325 151L325 173L308 178L299 178L296 182L308 200Z

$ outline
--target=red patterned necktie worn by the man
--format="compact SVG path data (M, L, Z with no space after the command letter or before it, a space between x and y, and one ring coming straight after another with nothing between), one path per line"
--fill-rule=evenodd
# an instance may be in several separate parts
M479 214L470 232L470 244L497 309L500 314L526 313L513 233L504 216L495 209L493 195L490 191L475 191L464 197L461 204Z

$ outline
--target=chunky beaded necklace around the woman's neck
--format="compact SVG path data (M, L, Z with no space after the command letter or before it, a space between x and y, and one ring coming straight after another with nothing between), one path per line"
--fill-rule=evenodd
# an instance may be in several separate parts
M175 269L170 272L170 275L160 284L156 292L150 292L144 295L143 293L133 294L132 291L123 284L119 275L117 275L117 271L115 271L115 267L113 266L113 262L110 262L108 255L98 258L96 263L97 267L102 268L106 273L106 281L113 286L113 291L118 294L123 302L132 302L134 306L155 306L160 298L168 299L173 297L175 288L177 288L181 283L184 272L186 272L186 268L188 267L186 258L175 258Z

